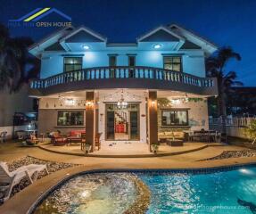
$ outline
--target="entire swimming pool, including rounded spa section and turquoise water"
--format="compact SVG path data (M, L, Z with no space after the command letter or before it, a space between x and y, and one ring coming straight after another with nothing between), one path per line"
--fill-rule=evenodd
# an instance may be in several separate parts
M79 175L50 193L34 213L124 213L136 206L146 206L138 213L149 214L256 213L256 167Z

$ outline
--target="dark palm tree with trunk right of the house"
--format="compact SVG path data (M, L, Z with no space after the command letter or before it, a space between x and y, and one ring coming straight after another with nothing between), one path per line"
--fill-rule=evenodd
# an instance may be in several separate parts
M217 78L219 95L217 97L218 115L226 116L226 97L232 90L232 86L243 86L237 81L235 71L227 72L225 67L231 59L241 61L239 53L235 53L231 47L222 47L212 56L206 59L206 70L210 77Z

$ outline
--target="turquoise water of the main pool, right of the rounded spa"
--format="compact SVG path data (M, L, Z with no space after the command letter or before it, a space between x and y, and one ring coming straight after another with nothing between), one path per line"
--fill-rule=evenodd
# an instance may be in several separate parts
M256 168L212 174L140 174L151 190L147 213L256 213Z

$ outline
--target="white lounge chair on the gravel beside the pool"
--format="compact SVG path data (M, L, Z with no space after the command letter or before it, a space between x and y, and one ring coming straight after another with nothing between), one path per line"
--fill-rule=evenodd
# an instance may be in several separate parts
M23 166L10 172L6 162L0 161L0 184L3 184L0 186L0 189L6 191L4 195L4 202L10 198L14 185L20 184L23 178L27 178L29 183L32 184L33 181L37 180L38 173L43 170L49 174L46 165L40 164L29 164L28 166ZM34 173L35 175L32 178Z

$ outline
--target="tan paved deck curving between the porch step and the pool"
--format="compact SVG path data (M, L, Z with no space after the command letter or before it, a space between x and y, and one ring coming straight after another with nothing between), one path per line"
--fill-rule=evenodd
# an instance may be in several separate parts
M15 194L9 201L0 208L1 214L22 214L26 213L29 207L53 185L58 184L62 179L70 177L79 171L90 169L190 169L190 168L211 168L219 166L230 166L241 163L256 163L256 157L239 157L221 160L199 161L216 157L225 151L244 151L244 147L223 145L211 146L196 152L189 152L175 156L153 157L153 158L95 158L81 157L74 155L63 155L53 152L46 152L37 147L23 148L18 144L0 144L0 161L13 161L15 159L30 155L47 161L59 161L67 163L82 164L81 166L62 169L43 177L33 185Z

